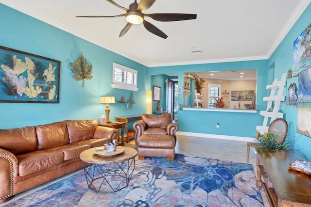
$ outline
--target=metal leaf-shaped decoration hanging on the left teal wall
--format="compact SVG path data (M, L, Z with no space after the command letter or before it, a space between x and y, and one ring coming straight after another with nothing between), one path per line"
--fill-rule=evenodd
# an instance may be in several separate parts
M86 58L83 56L83 52L81 52L80 57L77 58L75 63L70 63L72 69L71 71L74 73L74 80L82 80L82 87L84 87L85 80L92 80L92 64L87 64Z

